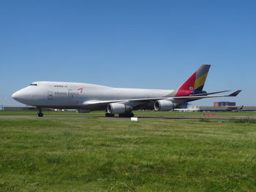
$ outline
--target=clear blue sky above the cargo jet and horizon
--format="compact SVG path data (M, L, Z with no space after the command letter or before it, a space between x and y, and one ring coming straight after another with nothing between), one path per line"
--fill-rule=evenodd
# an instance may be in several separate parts
M256 106L256 1L0 1L0 104L39 80L178 88L211 64L206 91Z

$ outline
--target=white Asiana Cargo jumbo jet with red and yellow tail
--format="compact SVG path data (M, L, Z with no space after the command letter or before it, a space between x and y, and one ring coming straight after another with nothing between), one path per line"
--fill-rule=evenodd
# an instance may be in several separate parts
M241 90L229 95L214 95L227 91L207 93L203 86L211 65L202 65L179 88L156 90L139 88L112 88L80 82L32 82L12 94L12 98L23 104L37 107L38 116L42 110L75 109L78 112L104 110L106 117L133 117L133 110L170 111L179 105L198 99L237 96Z

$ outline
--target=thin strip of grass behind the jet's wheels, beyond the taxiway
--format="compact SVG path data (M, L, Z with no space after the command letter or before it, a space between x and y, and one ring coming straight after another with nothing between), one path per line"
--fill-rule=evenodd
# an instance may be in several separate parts
M203 114L209 112L155 112L155 111L133 111L135 116L143 117L156 117L156 116L203 116ZM215 113L217 116L256 116L256 112L210 112ZM37 111L0 111L1 115L37 115ZM54 112L45 111L45 116L53 115L79 115L79 116L105 116L104 111L96 111L89 113L78 113L75 111L64 111L64 112Z

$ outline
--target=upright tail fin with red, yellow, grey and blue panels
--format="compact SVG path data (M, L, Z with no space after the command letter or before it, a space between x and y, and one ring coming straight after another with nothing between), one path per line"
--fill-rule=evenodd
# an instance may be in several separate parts
M176 91L176 96L189 96L190 94L203 93L203 85L211 65L202 65L184 82Z

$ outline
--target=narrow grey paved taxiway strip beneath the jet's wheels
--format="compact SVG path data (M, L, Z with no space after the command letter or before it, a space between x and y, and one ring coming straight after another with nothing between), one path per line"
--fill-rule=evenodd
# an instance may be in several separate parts
M111 120L130 120L130 118L106 118L103 116L82 116L82 115L45 115L39 118L37 115L0 115L0 119L45 119L45 118L100 118ZM229 120L229 119L241 119L241 118L253 118L256 116L158 116L158 117L138 117L139 120L199 120L199 119L211 119L211 120Z

